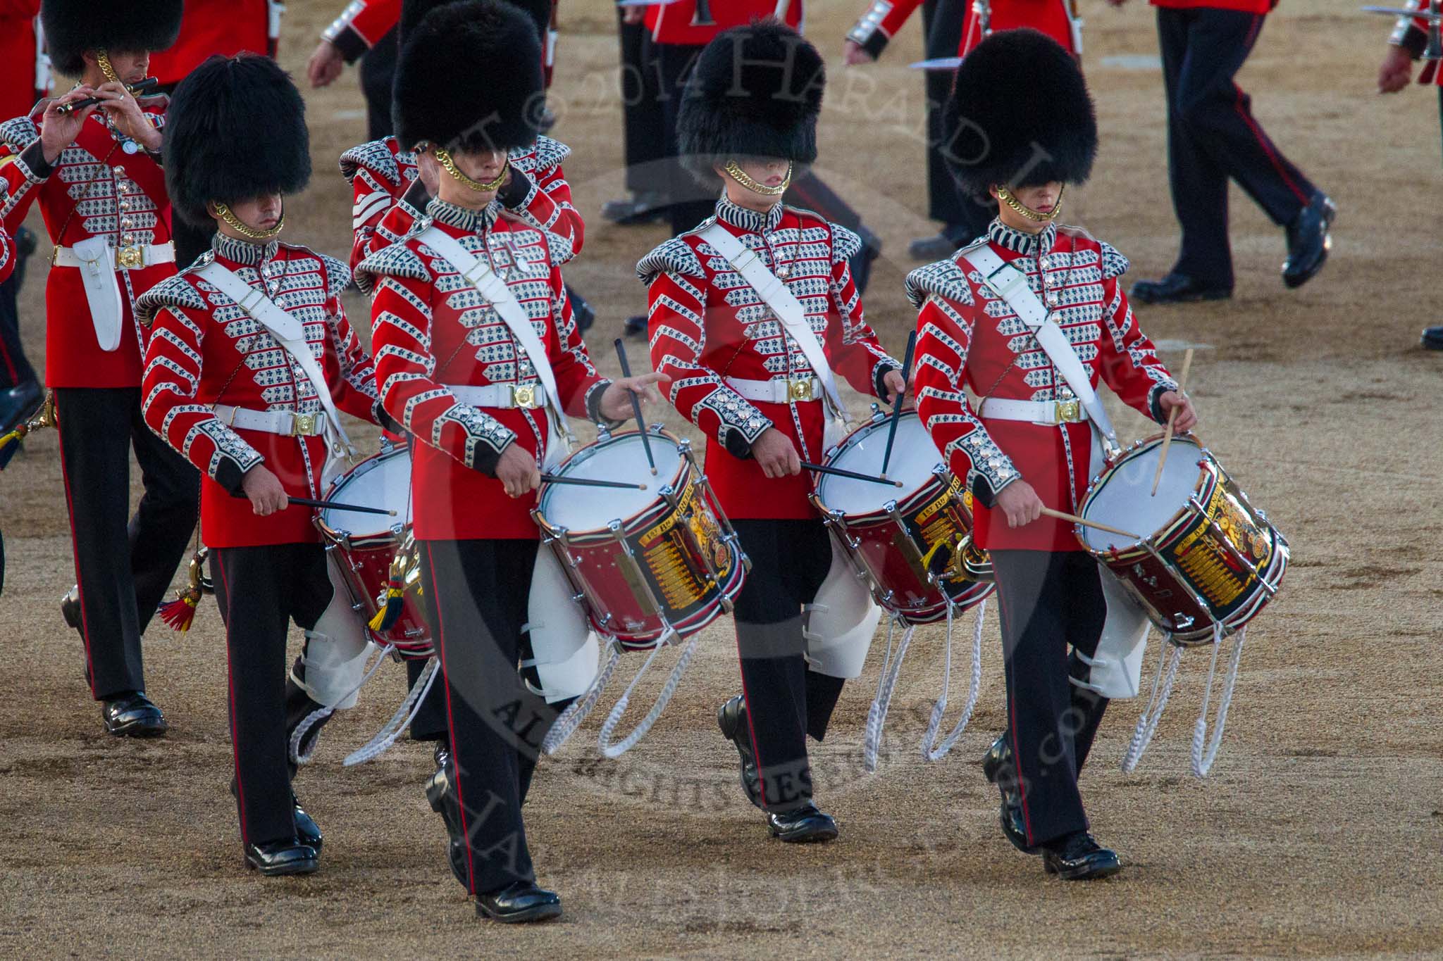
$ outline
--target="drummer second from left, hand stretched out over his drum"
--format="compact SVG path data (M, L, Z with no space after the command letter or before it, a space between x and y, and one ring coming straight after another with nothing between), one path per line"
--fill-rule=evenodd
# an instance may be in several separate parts
M485 85L456 84L485 63ZM397 143L434 174L436 199L404 241L362 261L375 291L372 350L385 409L413 435L421 586L446 680L450 758L427 785L456 877L481 916L544 921L560 899L535 883L521 804L538 745L566 703L518 674L538 532L538 464L564 415L613 422L629 390L582 343L561 281L570 243L502 216L511 151L535 141L541 43L498 0L439 7L407 30L395 85ZM527 679L538 683L535 667Z

